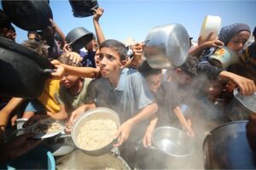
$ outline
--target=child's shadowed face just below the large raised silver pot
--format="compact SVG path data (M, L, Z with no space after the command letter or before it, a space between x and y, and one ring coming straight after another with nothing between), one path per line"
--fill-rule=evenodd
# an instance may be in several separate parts
M150 88L150 90L155 94L160 88L162 74L160 73L158 75L150 75L146 78L146 81L148 83L148 87Z

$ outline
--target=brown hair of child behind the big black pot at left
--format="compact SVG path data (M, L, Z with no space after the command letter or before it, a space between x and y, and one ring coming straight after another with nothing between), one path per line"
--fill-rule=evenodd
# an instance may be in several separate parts
M21 43L26 48L31 49L32 51L42 55L44 58L48 59L48 48L44 42L37 41L24 41Z

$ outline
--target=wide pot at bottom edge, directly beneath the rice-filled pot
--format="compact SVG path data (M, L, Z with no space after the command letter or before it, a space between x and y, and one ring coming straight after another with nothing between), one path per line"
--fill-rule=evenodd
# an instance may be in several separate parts
M67 156L56 159L57 169L127 169L125 160L113 153L103 156L88 156L82 150L74 150Z

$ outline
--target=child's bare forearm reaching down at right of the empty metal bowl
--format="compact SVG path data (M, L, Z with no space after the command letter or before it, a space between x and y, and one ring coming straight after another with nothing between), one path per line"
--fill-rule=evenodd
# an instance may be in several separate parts
M183 116L183 112L181 111L179 106L176 106L173 109L174 113L176 114L179 122L182 124L183 128L186 130L187 134L191 137L195 137L195 133L191 128L191 123L189 123L186 118Z

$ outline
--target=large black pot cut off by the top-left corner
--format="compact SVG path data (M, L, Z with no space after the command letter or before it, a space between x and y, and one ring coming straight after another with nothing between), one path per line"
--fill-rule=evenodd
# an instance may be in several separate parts
M53 18L47 0L4 0L2 6L10 20L26 31L42 30L46 26L50 26L49 19Z

